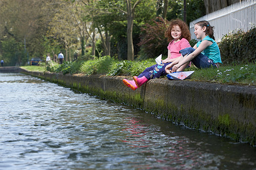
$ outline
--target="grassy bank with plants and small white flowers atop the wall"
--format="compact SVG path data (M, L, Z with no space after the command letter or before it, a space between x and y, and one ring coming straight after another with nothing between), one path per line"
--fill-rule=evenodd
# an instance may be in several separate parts
M154 59L144 61L118 61L108 56L89 61L64 62L62 65L50 63L45 66L22 66L30 71L50 71L53 73L85 75L104 74L110 76L133 76L142 73L146 67L155 64ZM255 86L256 66L254 63L221 66L219 69L197 69L192 66L185 71L195 70L189 81L205 81L225 84L241 84ZM166 78L166 76L163 76Z

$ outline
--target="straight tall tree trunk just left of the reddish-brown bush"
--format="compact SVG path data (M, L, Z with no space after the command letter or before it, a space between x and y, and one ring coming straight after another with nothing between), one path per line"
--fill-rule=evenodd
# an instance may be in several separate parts
M127 2L127 59L134 60L134 48L133 48L133 8L131 2Z

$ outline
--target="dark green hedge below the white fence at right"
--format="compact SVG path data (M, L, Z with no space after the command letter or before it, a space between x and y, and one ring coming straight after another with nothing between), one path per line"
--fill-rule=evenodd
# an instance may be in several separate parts
M221 59L225 65L250 63L256 59L256 28L225 35L220 44Z

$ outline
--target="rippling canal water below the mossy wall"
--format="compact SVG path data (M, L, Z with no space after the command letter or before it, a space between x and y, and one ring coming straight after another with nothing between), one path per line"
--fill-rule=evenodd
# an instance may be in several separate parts
M0 169L256 169L256 150L42 79L0 73Z

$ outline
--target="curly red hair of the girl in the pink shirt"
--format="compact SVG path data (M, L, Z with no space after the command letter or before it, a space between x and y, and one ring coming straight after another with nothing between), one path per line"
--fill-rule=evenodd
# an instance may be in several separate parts
M167 28L166 32L164 33L164 36L167 37L168 41L170 42L171 40L173 40L174 38L171 35L171 31L172 31L172 27L178 25L181 29L181 36L180 39L184 38L187 39L188 41L191 40L191 33L189 31L188 25L183 22L183 20L180 19L172 19L170 21L170 25Z

